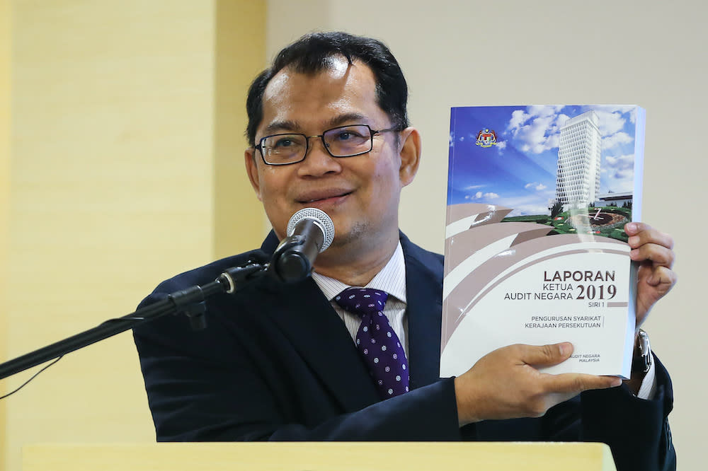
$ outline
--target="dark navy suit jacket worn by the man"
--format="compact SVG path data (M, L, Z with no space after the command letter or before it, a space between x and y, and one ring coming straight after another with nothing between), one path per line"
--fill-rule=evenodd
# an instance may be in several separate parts
M261 250L164 281L142 306L206 284L228 267L269 260ZM657 362L655 400L623 387L585 392L539 419L459 429L452 378L439 378L442 256L401 235L406 260L411 392L380 401L349 332L311 278L268 276L206 301L207 328L167 316L135 329L159 441L553 440L603 441L619 470L675 468L666 419L670 380Z

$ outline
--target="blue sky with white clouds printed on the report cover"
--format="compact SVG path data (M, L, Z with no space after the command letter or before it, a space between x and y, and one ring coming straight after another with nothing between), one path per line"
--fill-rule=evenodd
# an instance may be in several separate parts
M496 204L513 208L513 216L547 214L556 193L560 129L589 110L600 119L600 193L632 191L635 106L457 107L450 119L447 204ZM477 146L481 129L496 131L498 144Z

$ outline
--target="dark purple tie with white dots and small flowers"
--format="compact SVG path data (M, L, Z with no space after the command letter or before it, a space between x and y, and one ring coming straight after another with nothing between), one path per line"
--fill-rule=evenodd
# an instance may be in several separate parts
M348 288L334 301L361 316L356 345L369 366L382 399L408 392L406 351L383 313L388 293L370 288Z

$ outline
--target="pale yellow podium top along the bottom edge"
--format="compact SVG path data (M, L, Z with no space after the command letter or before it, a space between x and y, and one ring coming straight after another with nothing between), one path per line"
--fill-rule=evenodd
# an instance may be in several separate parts
M603 443L329 442L47 444L22 471L615 471Z

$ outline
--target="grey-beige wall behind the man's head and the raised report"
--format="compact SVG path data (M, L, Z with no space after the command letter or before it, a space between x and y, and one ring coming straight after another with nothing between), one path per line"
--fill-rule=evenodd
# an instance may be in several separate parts
M644 220L677 241L679 283L646 323L676 395L670 419L681 470L704 469L705 291L700 245L708 170L705 110L708 6L639 0L268 2L268 55L309 30L348 30L387 42L409 80L423 135L401 228L441 251L450 107L636 103L646 108ZM700 366L699 366L700 365Z

